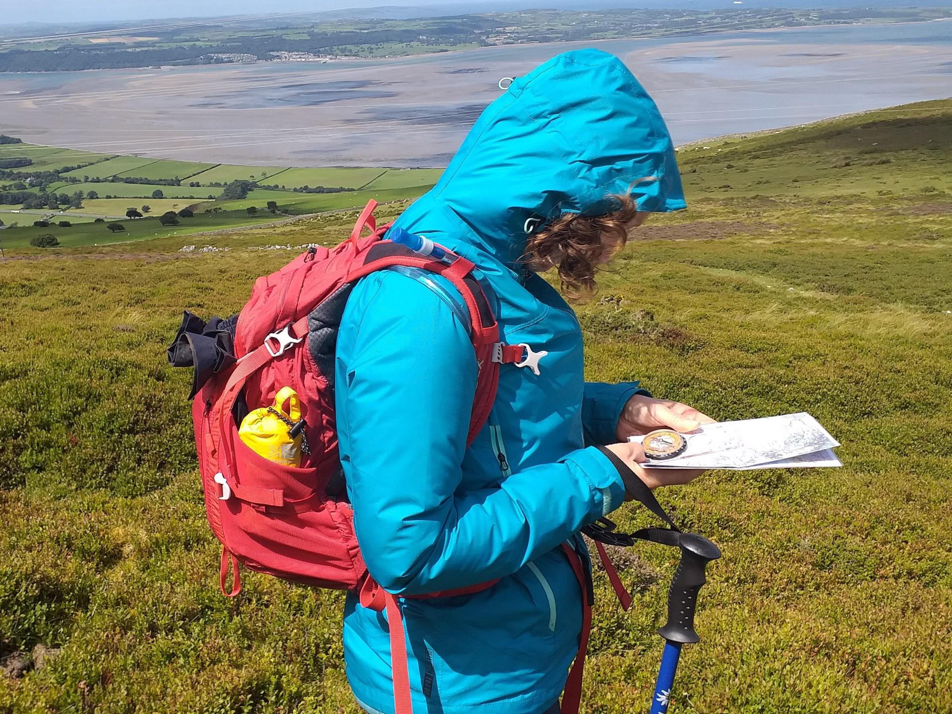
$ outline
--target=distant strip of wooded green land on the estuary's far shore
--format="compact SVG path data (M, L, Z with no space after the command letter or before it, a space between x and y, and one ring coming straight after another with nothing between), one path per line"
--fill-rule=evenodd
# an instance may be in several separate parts
M724 30L913 22L950 9L527 10L412 20L315 21L235 18L24 37L0 43L0 72L182 67L256 62L330 62L540 42L673 37Z

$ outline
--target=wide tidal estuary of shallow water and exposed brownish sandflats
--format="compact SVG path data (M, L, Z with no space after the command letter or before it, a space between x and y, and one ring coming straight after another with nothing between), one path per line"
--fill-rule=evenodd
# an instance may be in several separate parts
M441 166L500 77L598 47L678 143L952 96L952 22L518 45L393 60L0 74L0 132L237 164Z

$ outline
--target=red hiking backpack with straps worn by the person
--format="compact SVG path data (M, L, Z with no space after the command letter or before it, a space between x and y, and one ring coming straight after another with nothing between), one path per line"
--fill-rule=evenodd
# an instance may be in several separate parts
M239 564L284 580L359 592L361 604L387 610L397 714L410 712L407 650L397 599L367 572L354 535L353 511L338 456L334 419L334 352L347 297L356 282L393 266L443 275L463 296L479 364L467 446L486 422L496 398L499 367L521 363L524 347L499 341L499 326L473 264L446 252L444 260L382 240L370 201L350 238L336 248L309 248L287 266L259 278L248 304L229 321L206 325L186 313L169 347L169 360L194 367L192 418L208 525L222 543L220 585L228 597L241 590ZM362 237L364 228L370 235ZM297 392L309 453L301 466L269 461L247 446L238 429L248 410L273 403L282 387ZM601 544L600 545L600 550ZM585 593L585 624L591 601L585 567L565 545ZM228 570L233 572L228 588ZM612 573L613 574L613 573ZM617 577L617 576L616 576ZM614 579L613 579L614 580ZM414 597L477 592L484 583ZM577 666L566 687L564 709L577 710L587 627ZM567 702L566 702L567 700ZM573 702L574 701L574 702Z

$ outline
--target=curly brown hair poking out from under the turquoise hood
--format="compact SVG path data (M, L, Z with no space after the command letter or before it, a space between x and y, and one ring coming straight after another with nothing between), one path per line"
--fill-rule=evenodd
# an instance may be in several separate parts
M628 234L647 213L639 211L630 193L610 196L619 208L597 216L564 213L545 228L531 233L522 262L533 270L557 268L562 291L571 298L590 295L596 288L598 266L625 246Z

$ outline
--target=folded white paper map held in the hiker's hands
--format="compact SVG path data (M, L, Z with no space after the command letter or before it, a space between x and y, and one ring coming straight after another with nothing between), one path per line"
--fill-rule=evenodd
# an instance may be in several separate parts
M641 443L642 436L628 441ZM648 459L650 468L817 468L843 466L831 450L840 442L805 411L705 424L685 434L687 447L673 459Z

